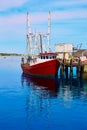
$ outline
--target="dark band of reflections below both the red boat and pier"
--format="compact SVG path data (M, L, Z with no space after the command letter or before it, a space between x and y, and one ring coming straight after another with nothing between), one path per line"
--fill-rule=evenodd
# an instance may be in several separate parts
M81 95L87 95L87 81L81 78L40 78L30 77L22 74L22 86L28 86L39 98L57 98L70 100L81 98Z

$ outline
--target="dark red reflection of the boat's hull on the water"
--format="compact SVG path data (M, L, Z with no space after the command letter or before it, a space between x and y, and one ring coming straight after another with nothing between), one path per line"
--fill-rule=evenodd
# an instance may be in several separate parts
M38 91L39 95L43 98L56 97L58 83L57 78L33 77L24 73L22 74L22 86L26 84L26 86Z

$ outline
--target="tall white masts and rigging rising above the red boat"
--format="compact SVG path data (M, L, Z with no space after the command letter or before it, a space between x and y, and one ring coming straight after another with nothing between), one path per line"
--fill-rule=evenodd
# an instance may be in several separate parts
M45 51L50 52L50 32L51 32L51 14L50 11L48 12L48 29L46 35L42 33L31 33L31 26L30 26L30 17L29 13L27 12L27 22L26 22L26 41L27 41L27 54L33 55L35 53L35 49L40 47L41 53L44 51L43 50L43 39L46 37L47 39L47 44L45 47ZM40 46L38 45L38 38L40 40Z

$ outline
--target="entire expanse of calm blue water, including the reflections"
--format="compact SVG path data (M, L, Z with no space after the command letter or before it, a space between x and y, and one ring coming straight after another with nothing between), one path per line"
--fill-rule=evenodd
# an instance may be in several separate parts
M0 130L87 130L87 81L31 78L0 57Z

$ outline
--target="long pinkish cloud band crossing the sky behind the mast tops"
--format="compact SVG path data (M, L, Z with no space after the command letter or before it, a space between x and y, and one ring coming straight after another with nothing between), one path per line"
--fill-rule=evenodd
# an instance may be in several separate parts
M39 25L43 23L48 22L48 12L47 13L30 13L30 24L31 26L33 24ZM77 11L55 11L51 12L51 21L52 23L54 21L59 21L59 20L67 20L67 19L87 19L87 10L77 10ZM11 27L14 25L25 25L26 26L26 14L21 14L21 15L11 15L11 16L5 16L5 17L0 17L0 28L4 27ZM47 26L47 24L46 24Z

